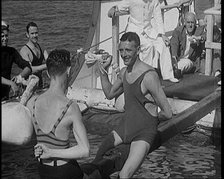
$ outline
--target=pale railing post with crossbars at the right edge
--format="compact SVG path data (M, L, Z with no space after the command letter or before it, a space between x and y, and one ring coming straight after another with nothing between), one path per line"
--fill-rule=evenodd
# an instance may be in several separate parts
M205 75L212 74L212 60L213 60L213 49L221 50L221 43L213 42L213 26L214 26L214 15L221 15L221 6L215 6L213 8L204 11L207 16L207 34L206 34L206 57L205 57Z

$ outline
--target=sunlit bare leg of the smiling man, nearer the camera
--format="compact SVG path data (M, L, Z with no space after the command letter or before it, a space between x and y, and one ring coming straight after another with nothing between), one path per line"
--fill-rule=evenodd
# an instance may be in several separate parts
M135 171L141 166L149 149L150 144L143 140L132 142L128 159L119 173L120 178L132 177Z

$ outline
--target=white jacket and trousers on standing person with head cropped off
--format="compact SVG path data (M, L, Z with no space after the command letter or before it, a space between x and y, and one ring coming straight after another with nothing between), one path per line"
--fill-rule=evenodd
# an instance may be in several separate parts
M136 32L141 41L140 59L154 68L160 66L164 80L174 78L171 55L158 34L165 34L160 3L158 0L123 0L119 11L129 11L126 31Z

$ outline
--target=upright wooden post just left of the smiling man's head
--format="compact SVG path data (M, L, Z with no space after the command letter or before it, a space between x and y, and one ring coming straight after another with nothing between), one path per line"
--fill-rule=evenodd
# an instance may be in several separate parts
M114 16L112 18L112 55L113 62L119 65L119 53L118 53L118 42L119 42L119 16ZM117 79L117 75L114 70L112 70L111 83Z

